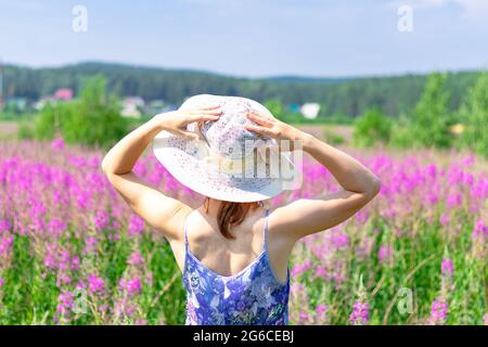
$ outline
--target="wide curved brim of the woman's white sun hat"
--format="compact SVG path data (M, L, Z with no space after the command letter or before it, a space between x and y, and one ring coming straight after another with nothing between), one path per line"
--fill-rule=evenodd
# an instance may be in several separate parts
M182 138L165 130L157 133L153 141L155 157L181 184L220 201L249 203L268 200L284 190L294 189L292 187L299 175L291 154L286 152L273 156L271 164L271 156L256 155L253 158L256 166L267 168L268 172L257 178L209 169L201 155L204 147L202 140ZM274 168L279 166L279 175L269 175L270 165Z

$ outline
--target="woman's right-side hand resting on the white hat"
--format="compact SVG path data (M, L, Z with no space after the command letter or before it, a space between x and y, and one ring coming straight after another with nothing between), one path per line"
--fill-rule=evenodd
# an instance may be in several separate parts
M246 125L245 128L249 131L271 137L275 139L280 145L280 149L283 146L284 141L288 142L288 150L294 151L294 141L304 141L309 137L308 133L298 130L291 125L281 121L277 118L264 117L257 113L248 113L247 118L253 120L257 125Z

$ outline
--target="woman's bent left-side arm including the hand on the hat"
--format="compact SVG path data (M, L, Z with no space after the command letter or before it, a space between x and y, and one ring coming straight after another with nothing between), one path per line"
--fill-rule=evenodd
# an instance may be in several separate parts
M103 172L115 190L139 216L169 240L181 236L179 229L175 227L174 218L180 211L191 208L151 187L132 171L133 166L159 131L167 130L196 139L196 133L185 130L187 125L193 121L217 120L219 114L218 107L208 107L156 115L121 139L102 160Z

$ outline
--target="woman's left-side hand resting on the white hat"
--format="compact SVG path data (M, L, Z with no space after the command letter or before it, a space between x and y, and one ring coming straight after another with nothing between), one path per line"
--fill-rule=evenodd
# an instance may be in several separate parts
M205 108L177 110L162 113L154 116L158 126L176 136L187 139L197 140L201 136L196 132L188 131L187 126L197 121L198 126L207 120L218 120L222 113L220 105L213 105Z

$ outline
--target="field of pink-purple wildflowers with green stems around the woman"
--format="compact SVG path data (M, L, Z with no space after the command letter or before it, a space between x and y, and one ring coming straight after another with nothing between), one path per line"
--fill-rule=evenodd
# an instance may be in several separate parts
M486 324L488 167L462 153L347 150L383 182L357 215L296 245L291 324ZM101 151L0 142L0 324L182 324L169 245L102 175ZM136 171L196 207L152 155ZM305 157L285 204L337 190Z

